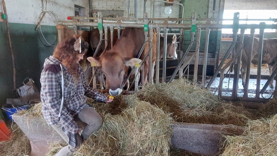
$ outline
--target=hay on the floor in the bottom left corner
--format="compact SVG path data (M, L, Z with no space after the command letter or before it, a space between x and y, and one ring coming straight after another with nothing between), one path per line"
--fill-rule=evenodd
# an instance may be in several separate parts
M12 135L9 140L0 142L0 155L14 156L14 155L30 155L30 142L21 131L21 129L13 123Z

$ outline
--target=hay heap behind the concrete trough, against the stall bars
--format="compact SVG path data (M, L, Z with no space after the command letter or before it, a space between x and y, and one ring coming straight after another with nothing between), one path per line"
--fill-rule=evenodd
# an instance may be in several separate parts
M250 109L221 101L186 79L147 85L137 92L137 96L172 113L177 122L245 126L254 118Z

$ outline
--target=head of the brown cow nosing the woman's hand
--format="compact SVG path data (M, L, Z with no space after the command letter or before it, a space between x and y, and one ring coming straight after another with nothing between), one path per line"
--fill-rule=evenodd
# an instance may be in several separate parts
M135 62L141 62L140 59L123 57L119 53L111 51L103 53L100 57L88 57L87 60L95 62L96 66L101 66L110 87L109 93L114 96L122 92L122 83L127 74L127 67L134 66Z

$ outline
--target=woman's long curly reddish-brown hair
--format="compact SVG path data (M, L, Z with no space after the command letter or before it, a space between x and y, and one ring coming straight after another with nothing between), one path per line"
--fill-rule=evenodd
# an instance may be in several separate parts
M74 38L75 37L75 38ZM74 75L75 78L78 77L79 65L76 64L76 60L78 59L76 56L80 53L79 50L74 50L74 43L78 41L81 36L70 37L62 42L59 42L57 47L54 50L53 57L57 58L62 62L64 66L66 66L68 72ZM81 53L85 54L89 44L83 40L81 40Z

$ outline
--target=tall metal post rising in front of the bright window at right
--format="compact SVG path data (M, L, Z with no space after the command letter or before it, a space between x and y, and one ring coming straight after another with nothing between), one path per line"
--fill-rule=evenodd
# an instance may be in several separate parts
M239 12L234 13L234 21L233 21L233 42L237 41L237 32L239 31ZM235 51L236 49L233 49ZM237 89L239 84L239 67L240 62L234 62L234 79L233 79L233 90L232 90L232 98L236 99L237 97Z

